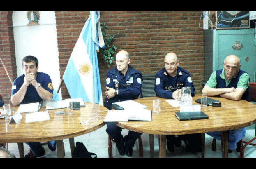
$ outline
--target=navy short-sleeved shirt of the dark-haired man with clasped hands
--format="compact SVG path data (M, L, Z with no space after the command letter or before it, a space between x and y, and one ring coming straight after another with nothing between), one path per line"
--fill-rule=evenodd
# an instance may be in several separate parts
M24 83L24 77L25 75L23 74L14 80L13 82L14 89L12 89L12 95L14 95L20 90L20 87ZM49 91L50 93L53 93L52 80L49 75L43 72L37 72L36 81L37 83L40 83L40 85L45 90ZM16 86L16 89L15 89L15 86ZM36 88L33 85L28 85L25 97L20 104L31 103L31 102L41 102L42 100L43 99L37 93Z

